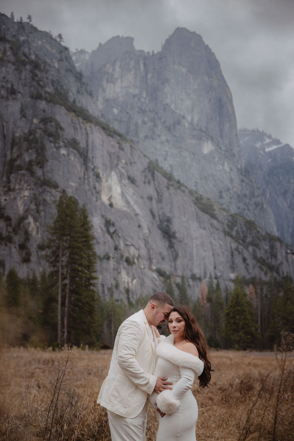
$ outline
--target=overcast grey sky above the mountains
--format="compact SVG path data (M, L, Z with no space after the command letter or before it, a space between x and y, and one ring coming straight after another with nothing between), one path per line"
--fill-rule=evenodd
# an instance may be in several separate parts
M238 127L294 147L294 0L1 0L0 11L89 52L115 35L157 52L176 27L195 31L220 62Z

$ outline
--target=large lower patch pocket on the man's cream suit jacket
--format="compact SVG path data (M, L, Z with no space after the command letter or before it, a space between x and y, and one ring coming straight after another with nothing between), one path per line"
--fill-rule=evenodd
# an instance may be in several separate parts
M112 403L119 404L119 406L130 407L131 404L134 404L136 390L137 386L134 385L133 381L119 374L109 391L108 398Z

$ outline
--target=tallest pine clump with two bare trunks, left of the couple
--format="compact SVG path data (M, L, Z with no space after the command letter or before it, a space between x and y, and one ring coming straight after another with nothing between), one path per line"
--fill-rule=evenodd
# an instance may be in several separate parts
M85 206L62 192L49 232L50 280L57 291L57 340L87 343L96 317L96 260ZM62 330L63 316L63 330Z

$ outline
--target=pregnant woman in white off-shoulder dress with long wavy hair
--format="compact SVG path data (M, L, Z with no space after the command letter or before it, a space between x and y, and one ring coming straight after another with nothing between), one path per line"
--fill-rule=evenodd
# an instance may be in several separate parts
M197 402L191 387L195 374L205 388L211 379L211 363L203 332L186 306L171 310L168 318L171 335L156 348L156 377L168 377L173 389L153 392L149 403L160 414L158 441L196 441ZM157 414L158 416L158 414Z

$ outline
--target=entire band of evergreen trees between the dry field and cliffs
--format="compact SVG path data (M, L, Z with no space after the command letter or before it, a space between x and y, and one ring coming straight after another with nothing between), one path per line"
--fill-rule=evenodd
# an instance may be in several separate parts
M52 346L72 343L92 348L111 347L121 322L144 308L149 294L135 303L108 300L97 288L97 254L93 228L85 206L62 192L56 217L48 227L49 271L21 279L11 268L0 277L0 333L7 344ZM214 348L272 349L280 332L294 332L294 284L289 277L269 280L237 276L232 291L222 292L212 276L202 280L194 302L186 278L174 283L164 277L164 290L175 304L186 304ZM165 330L166 328L164 328Z

